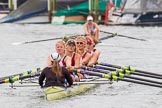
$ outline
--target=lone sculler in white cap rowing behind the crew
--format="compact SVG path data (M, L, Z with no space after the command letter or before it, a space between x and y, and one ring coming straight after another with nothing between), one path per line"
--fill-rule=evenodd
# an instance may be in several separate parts
M88 16L87 22L84 24L84 31L86 36L92 36L95 43L99 42L99 26L97 23L93 22L93 17Z

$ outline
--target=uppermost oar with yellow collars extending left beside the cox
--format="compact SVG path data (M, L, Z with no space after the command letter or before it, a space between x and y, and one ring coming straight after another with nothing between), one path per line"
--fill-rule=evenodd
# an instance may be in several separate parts
M41 69L40 68L37 68L36 70L32 70L32 71L26 71L24 73L20 73L20 74L17 74L17 75L11 75L9 77L6 77L5 79L1 79L0 80L0 84L3 84L3 83L13 83L14 81L17 81L19 80L20 78L25 78L29 75L33 75L37 72L40 72Z

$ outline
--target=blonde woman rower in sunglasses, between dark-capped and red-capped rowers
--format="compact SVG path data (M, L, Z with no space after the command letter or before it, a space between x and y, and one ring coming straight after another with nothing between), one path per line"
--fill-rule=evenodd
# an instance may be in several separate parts
M91 55L86 51L87 43L85 37L78 36L76 38L76 43L77 43L76 52L80 54L81 65L87 65L91 58Z

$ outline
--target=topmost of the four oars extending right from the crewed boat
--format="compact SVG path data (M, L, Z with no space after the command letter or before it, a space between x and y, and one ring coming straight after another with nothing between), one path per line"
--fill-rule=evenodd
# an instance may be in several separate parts
M103 65L103 66L108 66L108 67L114 67L114 68L118 68L118 69L125 69L125 70L130 70L132 72L140 72L140 73L144 73L144 74L150 74L150 75L155 75L155 76L160 76L162 77L162 74L157 74L157 73L153 73L153 72L147 72L147 71L142 71L142 70L138 70L135 69L131 66L118 66L118 65L113 65L113 64L109 64L109 63L103 63L103 62L97 62L97 64L99 65Z

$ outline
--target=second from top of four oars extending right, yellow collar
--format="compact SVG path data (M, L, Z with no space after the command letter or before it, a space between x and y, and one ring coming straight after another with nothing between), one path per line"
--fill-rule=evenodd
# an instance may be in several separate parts
M116 68L106 67L106 66L102 66L102 65L92 65L92 66L89 66L89 67L94 67L94 68L97 68L97 69L110 70L110 71L118 71L118 72L123 73L123 74L132 74L132 75L139 75L139 76L144 76L144 77L162 79L161 76L139 73L139 72L135 72L135 71L126 70L126 69L123 69L123 68L122 69L121 68L116 69Z

